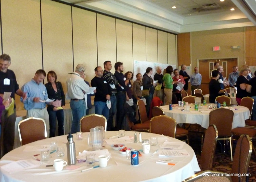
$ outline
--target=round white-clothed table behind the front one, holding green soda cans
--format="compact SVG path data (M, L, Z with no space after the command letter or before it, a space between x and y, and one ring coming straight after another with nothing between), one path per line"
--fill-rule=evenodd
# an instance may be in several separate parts
M208 128L209 113L211 111L207 108L208 105L203 105L202 109L198 109L198 111L194 111L193 104L190 104L190 111L182 111L181 109L184 108L178 107L177 104L173 104L173 110L169 110L168 105L161 106L161 108L164 110L166 116L175 119L177 123L199 124L203 128ZM232 129L244 127L246 125L244 120L250 117L249 109L240 105L229 108L234 112Z

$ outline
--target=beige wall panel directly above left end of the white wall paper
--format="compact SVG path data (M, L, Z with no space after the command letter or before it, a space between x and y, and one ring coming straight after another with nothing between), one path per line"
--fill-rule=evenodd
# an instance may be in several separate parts
M146 61L146 29L144 26L132 24L133 60Z

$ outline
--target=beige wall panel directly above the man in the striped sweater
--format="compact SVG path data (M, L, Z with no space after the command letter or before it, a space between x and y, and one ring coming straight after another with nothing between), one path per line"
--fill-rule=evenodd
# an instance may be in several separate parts
M97 14L98 66L106 60L116 62L115 19Z

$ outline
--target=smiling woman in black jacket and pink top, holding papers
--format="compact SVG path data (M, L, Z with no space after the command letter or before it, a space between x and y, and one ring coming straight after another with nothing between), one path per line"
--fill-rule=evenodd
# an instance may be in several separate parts
M48 105L47 111L49 114L50 137L55 136L56 117L58 120L58 134L64 135L64 111L65 109L65 94L60 82L57 82L57 74L54 71L49 71L47 74L47 84L45 84L48 98L54 100L51 105ZM61 108L62 107L62 108Z

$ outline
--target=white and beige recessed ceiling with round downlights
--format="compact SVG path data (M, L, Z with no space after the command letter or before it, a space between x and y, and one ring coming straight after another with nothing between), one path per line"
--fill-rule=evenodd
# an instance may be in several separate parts
M173 33L256 25L256 0L54 1L64 1ZM231 8L235 10L231 11Z

